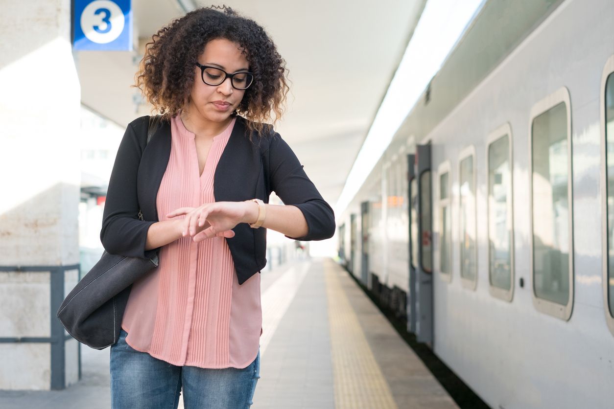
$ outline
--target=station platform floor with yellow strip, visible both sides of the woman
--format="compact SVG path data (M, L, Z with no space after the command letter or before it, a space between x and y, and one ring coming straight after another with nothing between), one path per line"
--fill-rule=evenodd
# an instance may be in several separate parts
M263 271L261 283L261 378L253 409L457 408L331 259L299 259ZM79 383L63 391L0 391L0 407L111 407L109 351L82 345Z

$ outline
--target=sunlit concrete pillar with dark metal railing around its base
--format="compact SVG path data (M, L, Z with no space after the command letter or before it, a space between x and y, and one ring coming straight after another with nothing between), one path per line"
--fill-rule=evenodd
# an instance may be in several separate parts
M0 10L0 389L64 389L80 372L56 318L79 268L71 0Z

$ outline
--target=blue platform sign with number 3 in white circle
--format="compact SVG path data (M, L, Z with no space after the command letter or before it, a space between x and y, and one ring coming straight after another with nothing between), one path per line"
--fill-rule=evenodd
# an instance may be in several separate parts
M75 50L131 51L131 0L74 0Z

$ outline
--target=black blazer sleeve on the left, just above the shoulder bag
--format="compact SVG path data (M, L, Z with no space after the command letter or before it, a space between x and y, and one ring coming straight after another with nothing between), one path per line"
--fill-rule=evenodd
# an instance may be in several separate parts
M155 221L142 221L138 216L136 178L141 154L141 143L130 123L115 157L104 204L100 240L110 254L148 258L145 251L147 231Z

